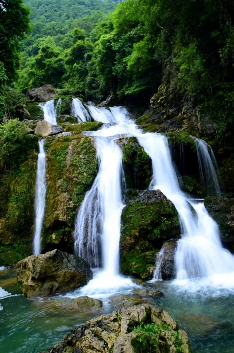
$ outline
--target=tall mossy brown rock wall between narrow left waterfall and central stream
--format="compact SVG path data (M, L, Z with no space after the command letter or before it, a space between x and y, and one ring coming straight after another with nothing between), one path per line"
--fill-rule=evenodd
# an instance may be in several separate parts
M47 194L42 249L73 251L72 232L77 208L92 185L98 165L93 139L82 131L102 124L86 122L66 126L71 136L50 137L45 143Z

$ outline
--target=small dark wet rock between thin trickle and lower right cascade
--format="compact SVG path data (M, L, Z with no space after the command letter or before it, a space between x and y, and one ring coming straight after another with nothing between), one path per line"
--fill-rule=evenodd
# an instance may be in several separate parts
M168 241L163 244L164 252L161 261L161 274L163 280L174 278L175 272L175 251L177 248L177 241Z

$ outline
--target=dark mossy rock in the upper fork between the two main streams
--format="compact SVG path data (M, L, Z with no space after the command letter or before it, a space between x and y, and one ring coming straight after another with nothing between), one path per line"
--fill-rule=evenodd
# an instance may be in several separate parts
M147 189L152 177L151 158L135 137L121 138L118 143L123 151L123 168L127 187Z

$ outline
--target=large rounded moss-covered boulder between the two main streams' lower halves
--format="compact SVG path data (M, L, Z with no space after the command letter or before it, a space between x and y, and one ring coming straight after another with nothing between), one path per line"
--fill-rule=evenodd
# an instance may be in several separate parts
M163 242L180 234L174 205L159 190L134 191L126 200L121 225L122 272L152 277Z

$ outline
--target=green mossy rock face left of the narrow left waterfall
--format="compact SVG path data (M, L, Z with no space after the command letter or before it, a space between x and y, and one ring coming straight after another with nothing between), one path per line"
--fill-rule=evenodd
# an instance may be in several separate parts
M37 153L31 151L19 169L4 175L1 196L0 264L14 265L31 255Z

